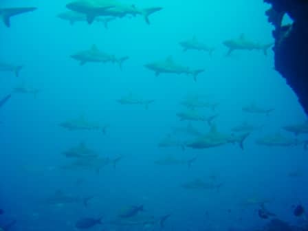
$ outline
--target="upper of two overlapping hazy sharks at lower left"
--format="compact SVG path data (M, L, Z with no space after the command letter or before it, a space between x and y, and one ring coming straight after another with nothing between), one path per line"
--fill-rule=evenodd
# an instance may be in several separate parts
M63 152L63 155L68 158L96 158L98 153L88 148L85 142L80 142L77 146L69 148Z

